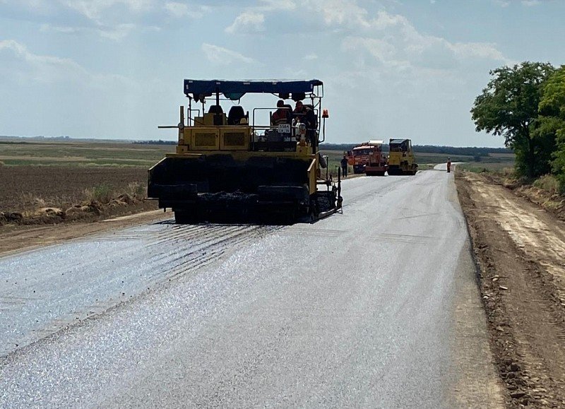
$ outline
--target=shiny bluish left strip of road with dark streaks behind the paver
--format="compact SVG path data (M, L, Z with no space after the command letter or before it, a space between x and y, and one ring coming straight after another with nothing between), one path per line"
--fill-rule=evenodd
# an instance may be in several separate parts
M0 258L5 284L0 290L0 355L194 273L280 228L155 223Z

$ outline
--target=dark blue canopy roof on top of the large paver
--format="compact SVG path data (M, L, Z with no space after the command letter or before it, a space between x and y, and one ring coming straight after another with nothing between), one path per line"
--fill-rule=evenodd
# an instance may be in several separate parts
M192 95L223 94L230 100L239 100L246 93L311 93L316 85L323 85L320 80L285 81L285 80L184 80L184 93Z

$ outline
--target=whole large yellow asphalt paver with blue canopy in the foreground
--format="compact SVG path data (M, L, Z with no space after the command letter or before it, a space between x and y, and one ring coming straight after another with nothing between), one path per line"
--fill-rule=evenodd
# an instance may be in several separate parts
M293 112L279 102L278 108L255 107L250 115L239 105L250 93L292 98L303 106ZM187 123L181 107L177 126L160 126L178 129L176 153L151 167L148 177L149 198L171 208L176 223L290 224L341 208L340 174L333 182L321 172L326 161L319 143L328 118L322 81L186 79L184 94ZM220 96L230 106L227 115ZM206 112L208 97L213 105ZM193 102L201 109L193 109Z

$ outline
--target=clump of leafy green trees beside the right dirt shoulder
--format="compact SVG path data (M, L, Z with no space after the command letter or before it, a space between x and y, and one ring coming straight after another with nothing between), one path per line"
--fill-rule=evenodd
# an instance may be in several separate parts
M565 66L525 61L490 75L471 109L476 130L504 138L519 176L553 174L565 192Z

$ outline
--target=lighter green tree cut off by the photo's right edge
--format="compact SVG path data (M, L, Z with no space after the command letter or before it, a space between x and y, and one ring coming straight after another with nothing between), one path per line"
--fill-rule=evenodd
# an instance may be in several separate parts
M553 134L557 147L552 155L552 170L565 192L565 66L547 79L540 101L540 131Z

